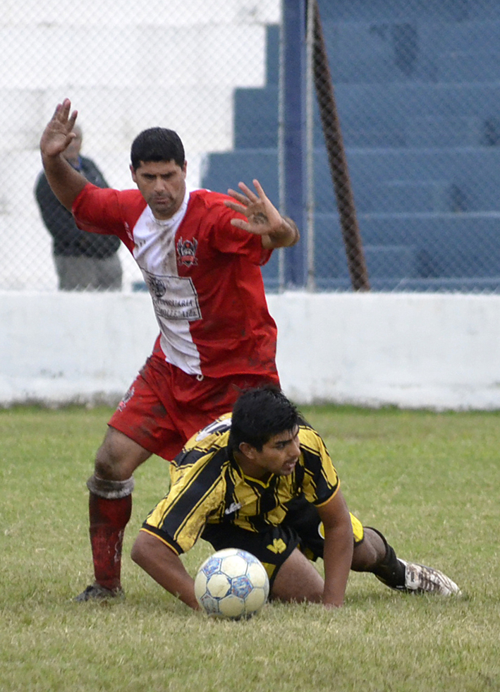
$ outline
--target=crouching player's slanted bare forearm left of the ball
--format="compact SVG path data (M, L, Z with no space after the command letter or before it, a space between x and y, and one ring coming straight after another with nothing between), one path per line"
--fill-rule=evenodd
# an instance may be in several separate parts
M185 571L181 559L159 538L140 531L131 557L154 581L193 610L200 607L195 597L195 581Z

